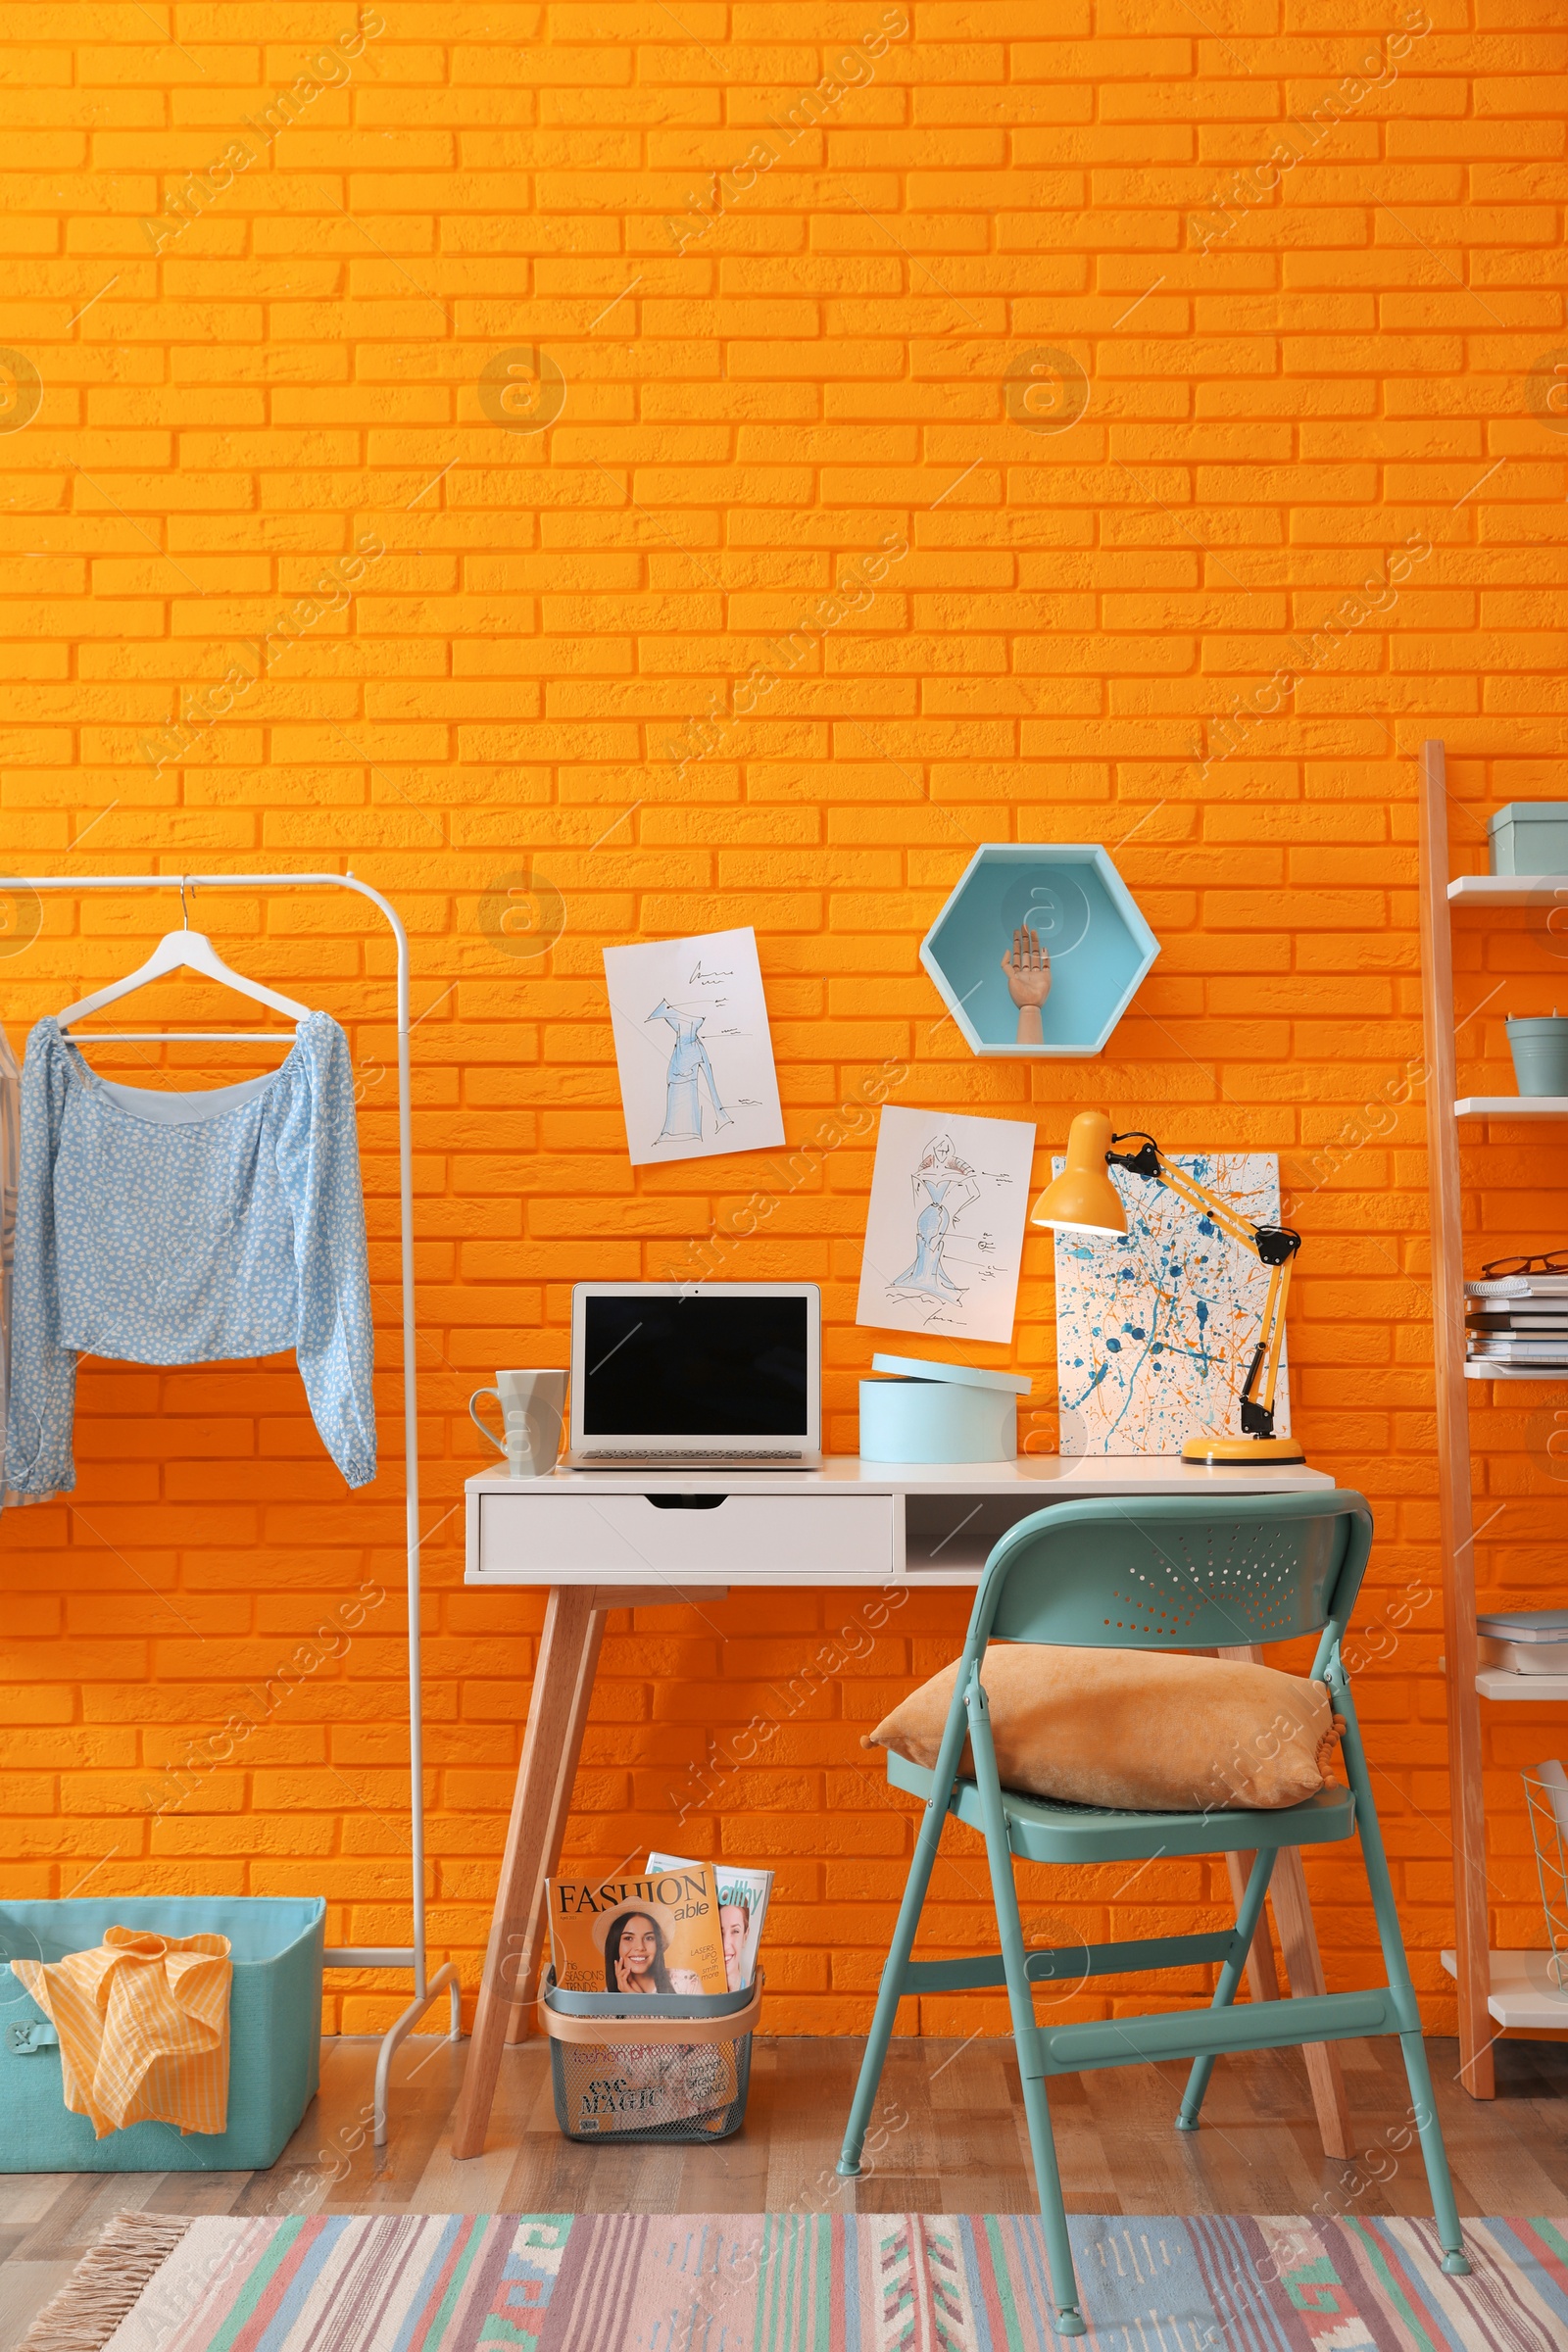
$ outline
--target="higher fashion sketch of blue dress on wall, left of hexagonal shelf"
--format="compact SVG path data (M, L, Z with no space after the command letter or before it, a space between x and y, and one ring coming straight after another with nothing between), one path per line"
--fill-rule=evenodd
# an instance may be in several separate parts
M604 948L632 1167L783 1143L757 934Z

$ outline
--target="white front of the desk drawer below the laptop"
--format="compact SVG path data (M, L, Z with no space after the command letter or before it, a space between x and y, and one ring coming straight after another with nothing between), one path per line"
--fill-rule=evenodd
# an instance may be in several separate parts
M820 1585L893 1573L891 1494L726 1494L708 1510L661 1510L646 1494L550 1489L477 1503L477 1571L508 1583Z

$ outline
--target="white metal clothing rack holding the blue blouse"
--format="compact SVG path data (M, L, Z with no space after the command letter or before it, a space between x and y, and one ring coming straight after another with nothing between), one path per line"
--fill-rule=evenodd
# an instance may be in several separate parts
M418 1383L414 1367L414 1129L409 1115L409 936L397 910L369 882L343 875L0 875L0 891L85 891L85 889L176 889L181 901L193 889L348 889L376 906L397 943L397 1223L402 1242L402 1451L407 1477L409 1545L409 1828L414 1837L414 1943L411 1945L341 1945L324 1955L329 1969L411 1969L414 1999L381 2037L376 2060L376 2147L386 2147L388 2084L397 2044L414 2032L425 2009L442 1994L451 1997L451 2039L461 2039L458 1971L444 1962L435 1976L425 1971L425 1776L423 1776L423 1700L418 1665ZM158 1030L169 1042L212 1044L223 1037L256 1040L277 1035L263 1030Z

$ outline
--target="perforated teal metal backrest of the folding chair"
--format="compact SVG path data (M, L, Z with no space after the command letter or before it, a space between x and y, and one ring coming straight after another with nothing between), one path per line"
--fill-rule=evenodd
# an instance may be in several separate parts
M1342 1630L1371 1545L1345 1489L1053 1503L994 1545L971 1639L1222 1649Z

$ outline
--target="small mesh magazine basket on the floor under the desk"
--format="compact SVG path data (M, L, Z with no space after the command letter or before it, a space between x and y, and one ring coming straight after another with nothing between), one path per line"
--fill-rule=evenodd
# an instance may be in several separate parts
M564 1992L545 1971L555 2122L569 2140L726 2140L745 2122L762 1971L741 1992Z

